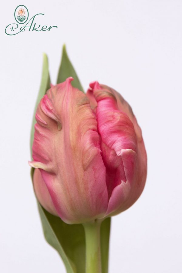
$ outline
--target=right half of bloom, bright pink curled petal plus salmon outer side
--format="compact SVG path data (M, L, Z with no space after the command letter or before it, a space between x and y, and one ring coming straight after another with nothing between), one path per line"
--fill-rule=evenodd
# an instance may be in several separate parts
M122 97L120 100L120 94L97 82L90 87L98 105L96 118L110 197L106 214L114 215L130 207L141 194L146 180L146 153L131 107Z

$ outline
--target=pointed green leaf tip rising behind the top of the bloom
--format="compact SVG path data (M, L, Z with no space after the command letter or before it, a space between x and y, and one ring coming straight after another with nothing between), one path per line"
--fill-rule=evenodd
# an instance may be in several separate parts
M72 86L78 88L80 91L84 93L83 87L79 81L75 69L73 68L72 63L68 58L68 54L66 52L66 45L63 45L62 59L59 67L57 83L64 82L68 77L73 77L74 81L72 81Z

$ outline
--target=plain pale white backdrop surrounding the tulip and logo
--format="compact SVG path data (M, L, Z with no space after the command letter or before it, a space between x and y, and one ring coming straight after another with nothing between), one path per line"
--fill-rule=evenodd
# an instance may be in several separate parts
M47 32L5 35L23 4ZM0 271L66 272L43 237L30 180L29 136L49 56L56 83L62 44L86 90L98 80L130 103L148 155L146 187L113 217L109 272L182 272L182 1L52 0L1 3Z

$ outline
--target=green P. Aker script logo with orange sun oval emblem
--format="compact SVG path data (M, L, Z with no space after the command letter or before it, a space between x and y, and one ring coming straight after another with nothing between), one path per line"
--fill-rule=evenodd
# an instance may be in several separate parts
M29 19L29 11L28 8L24 5L19 5L15 8L15 20L18 23L12 23L5 27L5 33L7 35L16 35L18 33L26 31L50 31L52 28L57 28L57 25L47 26L40 25L37 23L40 15L44 15L44 13L37 13ZM28 20L29 19L29 20ZM36 22L35 22L36 21Z

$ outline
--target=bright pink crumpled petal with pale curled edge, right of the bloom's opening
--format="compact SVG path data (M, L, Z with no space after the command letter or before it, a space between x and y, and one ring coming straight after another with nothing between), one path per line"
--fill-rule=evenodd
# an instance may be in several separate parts
M96 119L110 198L106 214L110 214L129 198L135 181L136 133L129 117L118 109L114 94L97 82L90 87L97 101Z

